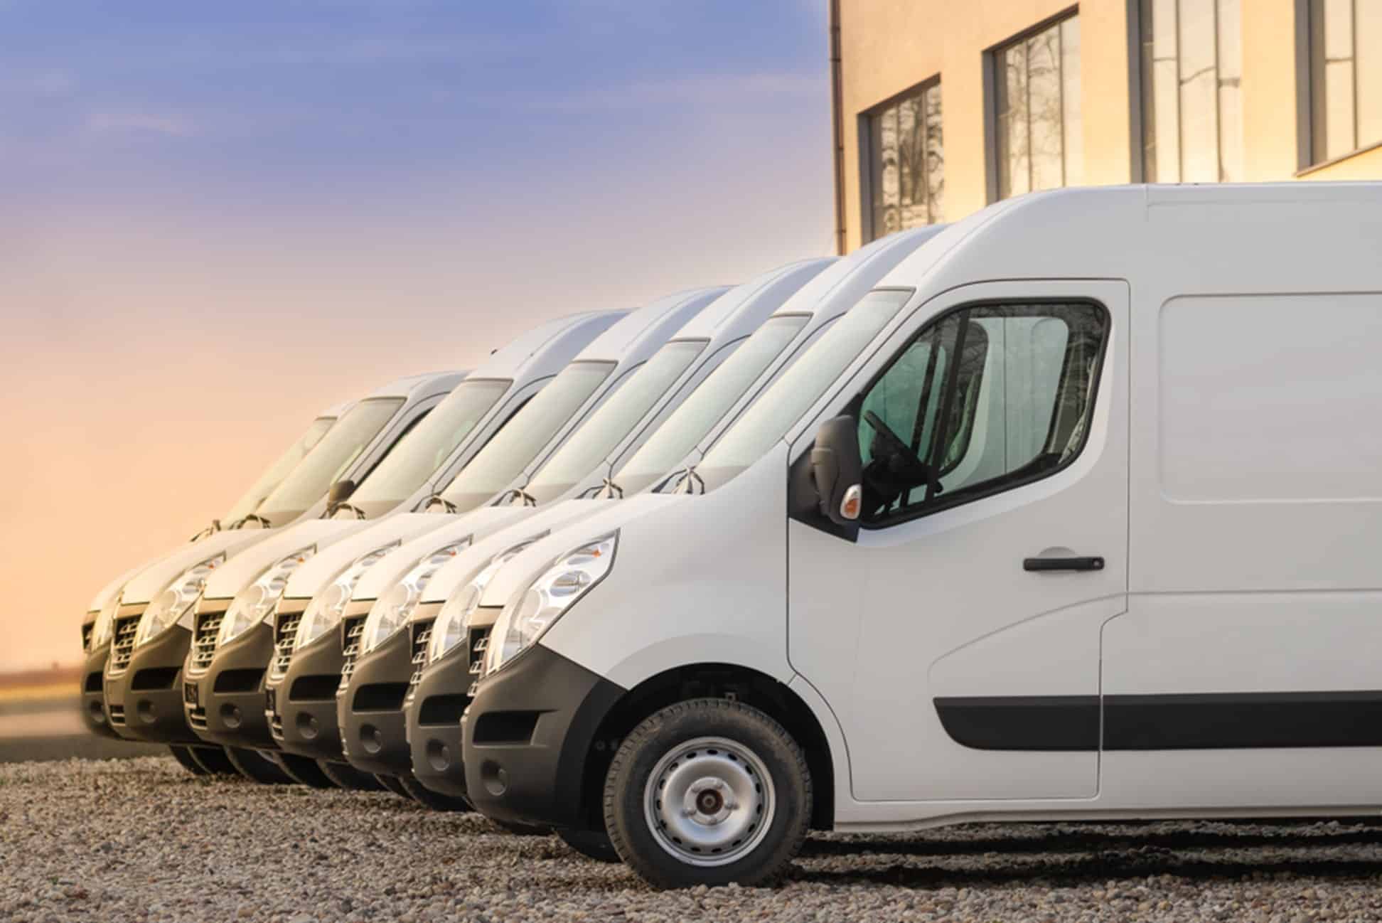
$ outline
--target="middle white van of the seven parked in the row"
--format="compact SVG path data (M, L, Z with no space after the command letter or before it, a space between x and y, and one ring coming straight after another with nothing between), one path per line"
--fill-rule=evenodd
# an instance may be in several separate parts
M390 517L293 575L278 609L279 647L265 681L267 696L260 702L285 759L316 760L325 771L346 777L348 764L336 725L336 691L344 662L337 626L343 618L355 615L352 594L359 584L377 579L380 571L398 580L417 565L422 551L402 557L401 550L419 536L437 536L423 542L424 569L460 554L470 542L468 533L446 532L449 524L463 518L459 514L521 486L525 471L565 445L585 420L619 401L629 373L648 362L687 318L721 293L723 289L683 292L629 312L567 366L558 377L560 390L535 399L462 468L428 511ZM365 561L370 562L368 572L359 567ZM422 575L413 579L426 582ZM387 785L401 792L391 779Z

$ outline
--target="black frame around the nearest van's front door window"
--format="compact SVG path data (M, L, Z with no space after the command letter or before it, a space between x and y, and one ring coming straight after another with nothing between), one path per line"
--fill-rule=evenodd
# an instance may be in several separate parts
M897 362L898 356L901 356L908 348L911 348L911 345L916 340L926 336L933 327L943 323L947 318L955 314L972 312L981 308L1014 308L1014 307L1038 307L1038 305L1053 305L1053 307L1088 305L1097 311L1104 325L1103 336L1100 337L1099 341L1099 351L1097 355L1095 356L1093 370L1090 373L1089 405L1085 409L1085 420L1090 423L1086 423L1085 431L1079 439L1079 446L1075 449L1075 452L1072 452L1068 459L1061 460L1060 464L1048 471L1035 471L1028 475L1012 479L1009 479L1006 475L999 475L996 478L991 478L990 481L984 481L974 485L973 491L962 488L956 493L948 493L948 495L941 495L938 497L933 497L930 493L930 488L927 488L926 491L927 496L920 503L915 503L908 508L897 510L896 513L891 513L878 520L865 521L860 518L858 525L861 529L868 529L868 531L890 529L896 525L901 525L902 522L911 522L914 520L934 515L937 513L952 510L959 506L976 503L978 500L984 500L991 496L996 496L999 493L1016 491L1019 488L1036 484L1038 481L1045 481L1046 478L1054 477L1056 474L1060 474L1061 471L1068 468L1085 453L1085 448L1089 445L1090 431L1093 430L1092 420L1099 409L1099 390L1103 387L1104 363L1108 356L1108 343L1113 339L1114 333L1113 314L1108 311L1108 307L1103 301L1099 301L1097 298L1089 296L1071 296L1071 297L1045 296L1036 298L1012 298L1012 297L977 298L974 301L966 301L963 304L956 304L951 308L947 308L945 311L941 311L940 314L927 319L927 322L922 325L922 327L918 329L915 334L908 337L907 341L889 356L889 361L869 377L869 380L864 384L864 387L858 390L858 392L853 398L850 398L850 402L844 406L843 413L853 416L855 421L858 421L861 417L860 408L862 406L864 395L867 395L873 388L873 386L879 380L882 380L882 377L889 372L889 369L891 369L893 365ZM956 374L959 370L958 355L960 350L963 350L963 330L965 326L967 325L969 321L966 319L963 326L960 327L960 333L956 340L956 362L952 366ZM1060 372L1061 380L1064 380L1067 374L1068 369L1067 362L1068 356L1066 358L1066 362L1063 362L1061 365L1061 372ZM937 420L943 419L944 415L948 412L949 403L954 399L954 397L955 395L951 383L947 383L945 394L941 395L941 405L937 409ZM1054 423L1056 423L1056 416L1052 415L1052 426L1054 426ZM938 432L938 428L940 427L937 427L937 432L933 432L931 435L937 444L941 444L944 442L945 434ZM966 435L966 445L969 438L972 438L972 435L973 435L973 427L970 427L970 432Z

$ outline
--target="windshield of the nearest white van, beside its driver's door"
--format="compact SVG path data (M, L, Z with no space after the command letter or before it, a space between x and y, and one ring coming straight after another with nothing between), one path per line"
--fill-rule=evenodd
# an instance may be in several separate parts
M697 471L706 489L757 462L786 435L911 296L896 289L869 292L836 321L705 453Z

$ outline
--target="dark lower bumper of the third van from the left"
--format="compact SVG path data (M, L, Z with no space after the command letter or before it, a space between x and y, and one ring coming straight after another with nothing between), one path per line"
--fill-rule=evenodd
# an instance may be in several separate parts
M199 738L220 746L274 746L264 717L264 672L272 656L274 627L258 623L217 648L205 673L185 672L182 709Z

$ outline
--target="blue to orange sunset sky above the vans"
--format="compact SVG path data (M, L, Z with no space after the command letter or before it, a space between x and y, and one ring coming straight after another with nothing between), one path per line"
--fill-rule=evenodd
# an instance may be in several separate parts
M0 0L0 672L319 409L832 251L824 0Z

